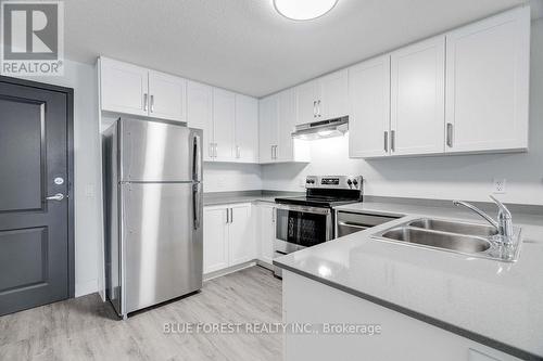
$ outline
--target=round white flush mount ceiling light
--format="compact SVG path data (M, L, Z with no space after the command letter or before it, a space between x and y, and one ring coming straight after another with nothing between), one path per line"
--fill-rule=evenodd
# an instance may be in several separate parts
M308 21L328 13L338 0L274 0L274 7L282 16L294 21Z

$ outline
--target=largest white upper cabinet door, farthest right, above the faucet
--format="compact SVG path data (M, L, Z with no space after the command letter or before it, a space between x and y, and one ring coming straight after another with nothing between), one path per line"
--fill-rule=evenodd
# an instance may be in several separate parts
M445 152L528 149L530 9L446 36Z

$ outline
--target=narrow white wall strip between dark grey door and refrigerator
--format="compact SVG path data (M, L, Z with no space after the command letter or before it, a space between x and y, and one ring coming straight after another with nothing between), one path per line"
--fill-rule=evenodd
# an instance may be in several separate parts
M98 90L93 65L64 62L63 77L26 78L74 89L75 294L98 289L100 179Z

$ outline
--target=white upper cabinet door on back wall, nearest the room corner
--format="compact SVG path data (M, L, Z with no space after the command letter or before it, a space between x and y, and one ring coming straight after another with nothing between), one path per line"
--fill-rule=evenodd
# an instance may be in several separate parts
M236 94L236 147L238 162L258 163L258 101Z

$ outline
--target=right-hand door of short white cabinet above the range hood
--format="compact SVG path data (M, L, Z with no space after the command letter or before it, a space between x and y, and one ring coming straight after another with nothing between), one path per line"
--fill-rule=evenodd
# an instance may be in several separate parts
M318 79L317 117L331 119L349 113L348 69L328 74Z

